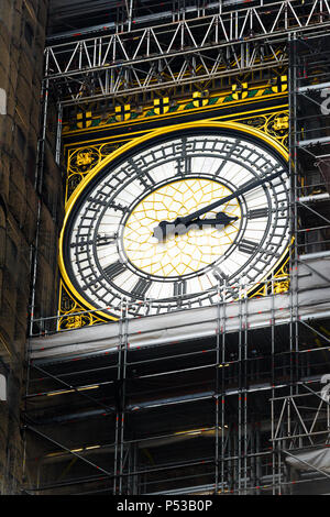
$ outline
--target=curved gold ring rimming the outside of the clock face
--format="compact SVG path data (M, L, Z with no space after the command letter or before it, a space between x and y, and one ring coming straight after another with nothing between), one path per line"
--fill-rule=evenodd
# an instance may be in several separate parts
M198 121L198 122L189 122L189 123L184 123L184 124L178 124L178 125L172 125L172 127L165 127L165 128L162 128L162 129L158 129L158 130L155 130L148 134L145 134L143 136L140 136L138 139L133 139L132 141L130 141L129 143L122 145L120 148L116 150L113 153L111 153L108 157L106 157L105 160L102 160L95 168L92 168L88 175L80 182L80 184L77 186L77 188L75 189L75 191L73 193L73 195L70 196L68 202L67 202L67 206L66 206L66 215L65 215L65 218L64 218L64 222L63 222L63 228L62 228L62 231L61 231L61 237L59 237L59 257L58 257L58 264L59 264L59 271L61 271L61 275L62 275L62 278L64 280L64 284L65 284L65 287L66 289L69 290L70 294L73 294L73 296L82 305L82 307L86 307L87 309L90 309L90 310L96 310L96 314L108 319L108 320L117 320L118 318L114 318L112 316L109 316L107 315L106 312L102 312L102 310L98 310L96 307L91 306L89 302L87 302L82 296L75 289L75 287L73 286L70 279L69 279L69 276L66 272L66 268L65 268L65 264L64 264L64 256L63 256L63 245L64 245L64 233L65 233L65 228L66 228L66 224L67 224L67 221L69 219L69 216L70 216L70 212L77 201L77 199L79 198L79 196L81 195L81 193L84 191L84 189L86 188L86 186L91 182L92 178L95 178L95 176L97 176L97 174L106 166L106 165L109 165L112 161L114 161L116 158L118 158L120 155L122 155L123 153L125 153L127 151L142 144L142 143L145 143L147 141L151 141L153 140L154 138L158 136L158 135L164 135L164 134L168 134L168 133L174 133L174 132L177 132L177 131L180 131L180 130L186 130L186 129L189 129L189 128L219 128L219 129L231 129L231 130L237 130L237 131L241 131L243 133L246 133L249 135L252 135L252 136L255 136L257 138L258 140L262 140L264 141L265 143L267 143L268 145L271 145L277 153L279 153L284 160L286 162L288 162L288 152L285 150L285 147L278 143L275 139L273 139L272 136L265 134L263 131L261 130L257 130L255 128L251 128L246 124L242 124L242 123L239 123L239 122L211 122L211 121L208 121L208 120L204 120L204 121ZM286 253L286 252L285 252ZM267 272L267 274L265 275L264 279L266 279L266 277L270 275L270 273L272 273L276 266L280 263L280 261L283 260L284 255L280 257L280 260L276 263L276 265L272 268L271 272Z

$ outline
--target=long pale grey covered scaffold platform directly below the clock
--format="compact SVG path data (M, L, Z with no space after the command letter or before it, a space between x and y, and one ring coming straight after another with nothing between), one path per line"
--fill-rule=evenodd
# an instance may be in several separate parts
M299 319L321 318L329 314L330 258L300 264L297 275ZM290 321L290 294L246 300L246 323L250 330ZM274 316L273 316L274 315ZM218 306L182 310L167 315L129 319L127 341L130 349L212 337L218 332ZM116 351L120 340L120 322L85 327L30 340L31 359L51 360L70 354ZM240 302L226 304L226 332L241 328ZM221 332L221 329L220 329Z

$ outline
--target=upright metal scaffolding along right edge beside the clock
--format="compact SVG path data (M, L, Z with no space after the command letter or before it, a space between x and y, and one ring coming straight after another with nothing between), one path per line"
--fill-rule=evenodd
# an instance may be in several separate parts
M290 41L290 109L293 176L293 286L298 285L298 267L310 271L311 261L329 254L329 111L324 102L330 78L329 38ZM326 279L326 278L324 278ZM299 289L293 288L293 352L297 366L286 393L277 392L272 403L274 416L272 442L280 493L328 493L327 459L319 468L316 461L329 443L329 397L324 383L327 366L317 365L319 358L328 364L329 330L327 323L316 328L297 315ZM317 346L306 346L304 334L312 332ZM314 374L314 375L312 375ZM326 452L327 453L327 452ZM311 485L306 485L309 482ZM294 486L295 485L295 486Z

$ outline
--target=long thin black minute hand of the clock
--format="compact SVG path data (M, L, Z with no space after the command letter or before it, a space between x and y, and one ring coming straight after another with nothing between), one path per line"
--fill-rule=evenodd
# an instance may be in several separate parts
M253 190L256 187L260 187L264 183L272 182L273 179L280 176L283 173L284 173L284 170L279 169L279 170L276 170L275 173L271 174L270 176L256 179L255 182L250 180L246 184L244 184L241 188L239 188L234 193L230 194L229 196L226 196L224 198L221 198L218 201L215 201L211 205L208 205L207 207L200 208L199 210L196 210L195 212L189 213L188 216L176 218L176 220L174 222L162 221L162 222L160 222L158 227L161 228L163 235L165 235L167 227L169 227L172 224L175 224L175 226L187 224L188 222L199 218L199 216L202 216L204 213L207 213L207 212L213 210L215 208L218 208L221 205L224 205L226 202L229 202L232 199L234 199L234 198L237 198L237 197L239 197L243 194L246 194L246 193L249 193L250 190ZM156 227L156 228L158 228L158 227ZM158 231L156 231L156 228L155 228L154 235L155 235L155 233L158 233Z

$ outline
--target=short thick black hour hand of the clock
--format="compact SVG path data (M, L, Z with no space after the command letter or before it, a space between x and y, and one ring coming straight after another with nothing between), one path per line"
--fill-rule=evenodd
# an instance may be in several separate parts
M233 221L237 221L238 217L230 217L224 212L217 213L216 218L212 219L194 219L189 221L188 224L184 224L180 218L177 218L173 222L162 221L160 224L154 229L153 237L155 237L158 241L165 241L169 235L183 235L187 233L189 230L200 229L202 227L216 227L217 229L221 229L227 227Z

